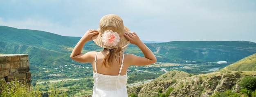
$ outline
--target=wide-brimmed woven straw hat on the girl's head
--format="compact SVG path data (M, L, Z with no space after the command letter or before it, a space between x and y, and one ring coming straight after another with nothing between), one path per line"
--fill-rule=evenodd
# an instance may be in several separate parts
M92 40L100 47L113 49L117 47L124 47L130 43L130 41L124 37L125 32L130 33L130 30L124 26L123 20L118 15L110 14L103 16L99 21L99 28L97 30L99 30L99 34L94 35ZM104 39L106 40L105 33L110 32L110 30L116 35L117 38L115 45L109 46ZM108 39L110 38L109 36L107 37Z

